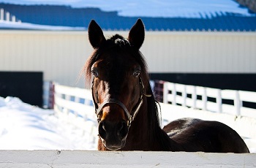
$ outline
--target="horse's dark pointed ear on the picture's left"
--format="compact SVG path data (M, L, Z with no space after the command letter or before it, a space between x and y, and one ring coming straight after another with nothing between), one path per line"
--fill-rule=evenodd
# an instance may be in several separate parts
M100 28L94 20L91 20L88 26L88 34L91 46L94 48L99 47L99 45L106 40L102 28Z

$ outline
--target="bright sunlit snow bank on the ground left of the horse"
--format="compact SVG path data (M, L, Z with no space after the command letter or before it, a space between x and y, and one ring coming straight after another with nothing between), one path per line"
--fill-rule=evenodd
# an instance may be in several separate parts
M61 120L53 110L0 97L1 150L97 150L93 137L90 130Z

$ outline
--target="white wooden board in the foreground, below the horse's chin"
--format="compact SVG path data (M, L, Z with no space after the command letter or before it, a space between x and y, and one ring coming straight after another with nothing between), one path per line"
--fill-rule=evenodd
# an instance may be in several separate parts
M256 167L256 153L0 150L0 167Z

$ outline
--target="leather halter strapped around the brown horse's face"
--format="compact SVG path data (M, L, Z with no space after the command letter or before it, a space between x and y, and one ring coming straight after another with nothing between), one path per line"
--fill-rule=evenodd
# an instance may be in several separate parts
M98 122L100 121L100 118L99 118L100 112L102 112L102 108L105 107L106 104L118 104L124 110L124 113L127 116L128 128L129 128L129 126L131 126L132 121L134 121L136 115L138 114L138 111L140 110L141 105L143 104L143 95L151 96L151 95L147 95L147 94L143 93L144 85L143 85L143 81L142 81L141 77L139 80L140 80L139 81L139 83L140 83L140 99L137 103L137 107L132 112L132 115L130 115L129 110L127 110L127 107L122 102L120 102L118 99L106 99L98 107L98 104L95 102L95 99L94 99L94 80L93 80L92 86L91 86L91 91L92 91L92 98L93 98L93 102L94 102L95 114L97 115Z

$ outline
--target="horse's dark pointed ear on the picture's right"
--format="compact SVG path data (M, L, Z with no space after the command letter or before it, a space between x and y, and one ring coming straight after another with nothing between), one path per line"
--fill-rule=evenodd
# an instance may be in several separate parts
M145 38L145 28L141 19L138 19L134 26L129 31L129 43L137 50L140 49Z

